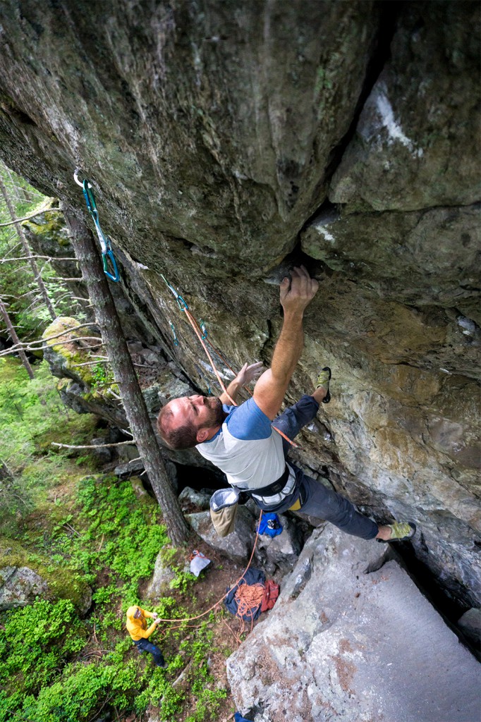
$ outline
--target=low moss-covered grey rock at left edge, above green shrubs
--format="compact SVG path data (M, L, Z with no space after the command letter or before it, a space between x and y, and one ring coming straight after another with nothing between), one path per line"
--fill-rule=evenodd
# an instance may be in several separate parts
M0 609L32 604L39 593L51 600L70 599L80 615L92 604L92 589L78 573L58 566L53 569L47 557L5 537L0 538L0 584Z

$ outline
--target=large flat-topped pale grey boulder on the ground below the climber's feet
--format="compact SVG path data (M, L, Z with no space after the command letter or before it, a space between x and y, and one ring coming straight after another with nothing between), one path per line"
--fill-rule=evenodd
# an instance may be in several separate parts
M381 545L316 530L269 617L228 659L253 722L474 722L481 668Z

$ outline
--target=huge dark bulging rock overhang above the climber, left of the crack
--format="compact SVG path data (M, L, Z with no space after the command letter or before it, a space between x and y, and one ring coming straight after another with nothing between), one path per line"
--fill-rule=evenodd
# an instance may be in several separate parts
M195 245L194 266L259 274L326 197L378 30L374 6L7 2L4 157L75 202L81 166L124 248L145 263L142 238L155 237L151 268Z

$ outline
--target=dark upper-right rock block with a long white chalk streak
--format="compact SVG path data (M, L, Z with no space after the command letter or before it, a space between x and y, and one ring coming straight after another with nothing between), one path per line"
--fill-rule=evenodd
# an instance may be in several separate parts
M412 211L480 200L480 14L475 3L460 9L404 5L391 58L334 173L333 203Z

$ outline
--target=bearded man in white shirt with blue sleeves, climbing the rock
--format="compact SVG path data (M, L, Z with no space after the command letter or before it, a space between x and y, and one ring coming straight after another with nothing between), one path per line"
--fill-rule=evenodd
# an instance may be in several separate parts
M415 534L413 523L378 526L350 501L311 479L290 461L287 464L289 443L272 430L277 427L293 439L316 417L319 404L329 403L331 398L331 371L325 367L313 393L302 396L276 418L303 349L303 314L318 287L303 266L291 271L291 279L282 280L284 323L272 365L257 380L251 399L241 406L228 406L225 393L220 398L194 395L173 399L157 419L160 435L170 448L196 446L204 458L224 471L231 487L247 492L263 510L299 510L331 521L347 534L363 539L410 539ZM227 392L234 401L241 386L255 378L259 366L245 365L229 384Z

